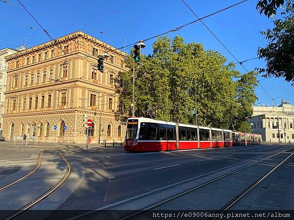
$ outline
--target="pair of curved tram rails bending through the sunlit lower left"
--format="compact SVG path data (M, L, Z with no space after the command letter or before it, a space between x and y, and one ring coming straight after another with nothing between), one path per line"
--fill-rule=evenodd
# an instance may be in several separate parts
M37 162L37 165L36 165L36 167L35 167L34 170L32 170L30 173L28 173L27 175L23 176L22 178L20 178L20 179L14 181L14 182L12 182L12 183L10 183L10 184L2 187L0 189L0 191L1 190L4 190L4 189L6 189L6 188L8 188L8 187L10 187L12 185L15 185L16 183L24 180L28 176L30 176L33 173L35 173L40 168L40 166L41 166L41 159L42 159L43 152L44 151L42 151L41 154L39 155L38 162ZM38 198L35 198L34 200L30 201L25 206L23 206L22 208L18 209L15 212L13 212L9 216L5 217L3 220L11 220L11 219L14 219L15 217L21 215L25 210L30 209L32 206L36 205L41 200L47 198L50 194L52 194L57 188L59 188L69 178L69 176L71 175L72 167L71 167L70 163L68 162L68 160L63 156L63 154L61 153L61 151L59 151L59 155L63 159L63 161L65 162L66 167L67 167L67 170L66 170L64 176L54 186L52 186L48 191L46 191L45 193L43 193Z

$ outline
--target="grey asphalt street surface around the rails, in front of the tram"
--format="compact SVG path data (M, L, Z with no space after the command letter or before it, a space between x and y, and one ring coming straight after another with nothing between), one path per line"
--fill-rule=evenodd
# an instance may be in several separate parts
M52 182L52 179L59 178L64 171L64 165L62 165L62 163L59 165L55 164L56 166L54 169L49 169L50 166L53 166L54 163L57 163L56 161L60 159L57 153L61 150L74 168L71 174L72 177L52 195L45 198L42 205L38 207L37 204L36 209L86 210L85 212L94 209L132 210L136 209L136 207L142 209L151 203L158 202L173 194L182 192L185 190L184 188L192 184L191 181L199 184L200 182L212 178L207 177L208 175L217 175L221 172L237 169L247 163L252 163L253 161L277 154L287 149L290 149L287 151L288 153L294 152L294 149L291 149L293 147L293 145L256 145L172 152L129 153L125 152L122 146L104 147L103 145L90 145L90 150L85 151L85 146L83 145L56 145L54 148L52 144L32 144L30 146L23 146L20 143L15 145L12 142L0 142L0 184L1 186L4 185L5 179L7 179L7 182L8 180L11 181L10 177L12 175L17 176L17 174L19 174L19 176L21 176L23 174L22 170L24 169L29 170L29 167L36 163L41 150L45 150L46 157L44 157L43 160L43 173L41 172L37 177L33 177L35 174L32 175L32 179L39 179L39 181L34 182L36 185L34 185L33 188L29 187L27 189L27 194L29 194L30 190L34 190L34 194L31 194L31 196L36 196L38 193L36 193L37 191L35 189L50 185L49 182L44 181L44 179L51 179ZM263 161L263 163L259 165L246 168L242 174L224 179L221 182L222 185L218 183L206 186L205 189L199 192L185 195L165 206L161 206L159 209L169 210L177 208L185 210L187 208L219 208L217 201L235 196L235 194L240 191L238 184L245 187L246 184L250 184L251 181L262 176L272 168L272 166L285 159L286 156L289 156L289 154L278 154L271 159ZM48 159L50 159L50 161L48 161ZM289 188L289 184L293 184L294 170L292 159L293 158L290 158L286 165L280 167L275 172L273 175L275 177L266 180L269 189L271 184L283 182L285 185L283 188L284 191L282 193L280 192L279 195L287 201L292 199L291 196L285 196L289 194L286 190ZM50 165L50 163L52 164ZM44 172L45 170L47 172ZM281 176L281 178L278 176ZM288 181L289 179L291 181ZM28 180L29 179L27 179L27 181ZM25 186L21 185L21 183L18 184L18 187L11 187L9 192L13 192L14 190L16 192L18 188ZM25 181L23 184L25 184ZM225 186L225 193L220 193L221 189L224 189ZM235 209L236 207L250 209L252 207L265 206L263 197L269 200L267 196L265 196L268 188L262 188L262 191L252 190L250 194L245 196L243 201L236 204ZM3 192L0 192L0 199L1 197L4 198L10 195L7 193L8 190L5 193ZM154 193L157 193L157 197L150 196ZM158 193L161 193L160 197L158 197ZM214 199L211 200L210 196L207 194L213 195ZM11 195L13 195L13 193ZM218 197L218 195L222 196ZM226 195L226 197L223 197L223 195ZM20 195L18 196L21 197ZM13 199L13 196L11 197L11 199ZM277 196L277 198L278 197L279 196ZM195 198L201 198L202 201L208 199L210 203L201 202L202 206L197 206ZM250 205L245 204L244 201L246 199L250 200L250 202L247 202L250 203ZM285 205L285 199L280 199L279 202L275 202L277 199L272 199L270 201L273 202L270 204L274 203L275 206L271 205L269 207L279 209L292 207L293 209L293 204L288 202L289 205ZM24 199L20 200L23 201ZM139 203L140 206L134 205ZM207 207L205 204L210 204L210 206ZM9 208L17 209L19 207L16 205L15 207ZM58 216L59 214L60 212L51 211L47 217L49 216L48 218L51 219L60 218L60 216ZM73 212L67 212L66 215L63 215L63 219L73 216Z

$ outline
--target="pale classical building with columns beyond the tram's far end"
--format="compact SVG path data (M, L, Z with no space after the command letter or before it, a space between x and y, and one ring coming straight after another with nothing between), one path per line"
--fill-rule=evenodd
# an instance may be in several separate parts
M263 141L294 143L294 106L284 102L279 106L253 106L249 119L252 132L261 133ZM280 137L280 138L279 138Z

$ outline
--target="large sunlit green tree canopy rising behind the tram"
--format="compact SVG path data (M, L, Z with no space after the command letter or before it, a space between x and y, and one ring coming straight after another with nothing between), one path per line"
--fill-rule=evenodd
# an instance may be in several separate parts
M142 57L141 57L142 59ZM241 74L219 52L181 37L159 37L153 54L135 64L135 115L233 129L252 114L254 71ZM122 72L117 117L131 115L133 60ZM196 94L196 97L195 97ZM197 99L197 104L196 100Z

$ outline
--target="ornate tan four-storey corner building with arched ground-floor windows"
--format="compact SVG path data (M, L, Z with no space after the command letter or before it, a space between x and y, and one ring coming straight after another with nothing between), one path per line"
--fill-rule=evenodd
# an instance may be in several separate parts
M97 62L103 53L109 57L101 73ZM87 114L93 121L92 143L120 142L125 125L115 120L114 112L120 84L116 76L126 70L124 57L122 51L82 31L6 56L10 89L5 92L3 136L86 143Z

